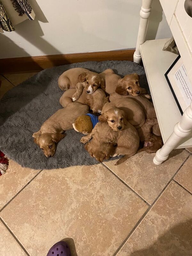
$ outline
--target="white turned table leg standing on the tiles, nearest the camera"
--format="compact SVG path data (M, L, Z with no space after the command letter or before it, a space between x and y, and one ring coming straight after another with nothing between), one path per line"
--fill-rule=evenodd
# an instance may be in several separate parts
M169 117L168 117L169 118ZM190 106L184 111L183 116L179 123L175 124L174 132L169 139L165 142L162 148L160 148L155 157L153 158L154 164L161 164L165 161L169 153L177 147L182 138L187 137L192 132L192 101Z

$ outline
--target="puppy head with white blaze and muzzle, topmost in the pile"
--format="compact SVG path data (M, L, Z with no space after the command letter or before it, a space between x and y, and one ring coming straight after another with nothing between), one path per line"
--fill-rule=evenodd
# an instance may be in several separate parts
M83 72L81 75L78 76L78 81L80 83L86 83L85 91L88 94L92 94L99 87L105 90L104 79L95 72Z

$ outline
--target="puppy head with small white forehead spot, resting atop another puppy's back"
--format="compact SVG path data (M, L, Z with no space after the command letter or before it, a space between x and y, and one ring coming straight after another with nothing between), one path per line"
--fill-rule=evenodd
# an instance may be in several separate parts
M125 113L119 108L110 108L108 111L99 116L100 122L108 122L108 125L114 131L121 131L127 124Z

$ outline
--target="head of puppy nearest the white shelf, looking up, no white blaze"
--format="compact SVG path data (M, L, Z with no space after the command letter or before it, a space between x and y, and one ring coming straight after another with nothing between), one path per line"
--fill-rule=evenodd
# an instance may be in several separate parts
M124 76L118 81L116 92L122 95L138 96L140 94L139 75L130 74Z

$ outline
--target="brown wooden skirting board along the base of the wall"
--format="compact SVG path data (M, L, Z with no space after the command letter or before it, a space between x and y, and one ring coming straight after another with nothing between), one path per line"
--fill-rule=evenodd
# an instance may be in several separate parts
M130 60L133 61L132 50L109 52L87 52L73 54L45 55L34 57L0 59L0 74L36 72L65 64L84 61Z

